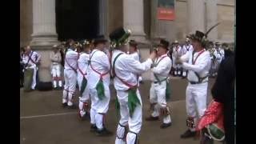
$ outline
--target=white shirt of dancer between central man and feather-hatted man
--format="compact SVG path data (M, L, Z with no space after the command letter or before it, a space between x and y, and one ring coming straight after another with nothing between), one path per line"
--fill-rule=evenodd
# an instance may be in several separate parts
M163 58L164 57L164 58ZM161 60L162 59L162 60ZM158 64L157 64L158 63ZM170 57L167 54L162 54L160 57L154 60L154 64L157 66L151 69L151 81L157 82L158 80L154 77L154 74L157 75L158 79L161 81L166 77L169 77L170 68L172 66L172 62Z

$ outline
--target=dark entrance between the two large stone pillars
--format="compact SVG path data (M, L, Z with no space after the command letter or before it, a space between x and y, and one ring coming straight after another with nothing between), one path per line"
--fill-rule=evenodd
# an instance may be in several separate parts
M98 0L56 0L59 41L95 38L99 32Z

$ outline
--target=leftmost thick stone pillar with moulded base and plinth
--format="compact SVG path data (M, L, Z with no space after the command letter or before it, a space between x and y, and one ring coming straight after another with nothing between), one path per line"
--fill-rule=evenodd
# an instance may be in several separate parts
M33 34L30 46L41 54L39 79L41 82L50 82L50 50L58 44L58 34L55 26L55 1L33 0Z

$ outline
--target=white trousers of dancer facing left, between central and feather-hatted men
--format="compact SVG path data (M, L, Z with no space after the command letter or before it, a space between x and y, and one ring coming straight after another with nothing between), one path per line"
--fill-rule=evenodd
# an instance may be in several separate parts
M167 107L166 103L166 81L159 83L151 83L150 87L150 103L155 104L153 113L151 114L152 117L158 117L160 115L160 109L167 109L169 111L169 108ZM170 114L163 117L163 123L170 123Z

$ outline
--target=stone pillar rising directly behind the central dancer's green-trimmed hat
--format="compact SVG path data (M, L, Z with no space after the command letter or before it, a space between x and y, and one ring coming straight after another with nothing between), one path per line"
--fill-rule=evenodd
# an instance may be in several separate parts
M132 31L130 38L139 42L146 42L143 11L143 0L123 0L123 26Z

